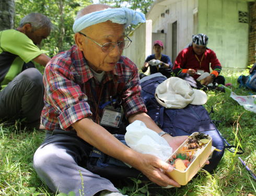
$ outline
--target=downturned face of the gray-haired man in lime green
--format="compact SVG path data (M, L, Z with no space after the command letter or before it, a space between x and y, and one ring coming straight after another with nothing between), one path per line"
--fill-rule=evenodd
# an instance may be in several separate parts
M49 28L42 28L38 30L27 31L25 34L33 41L35 45L39 45L43 39L46 39L51 30Z

